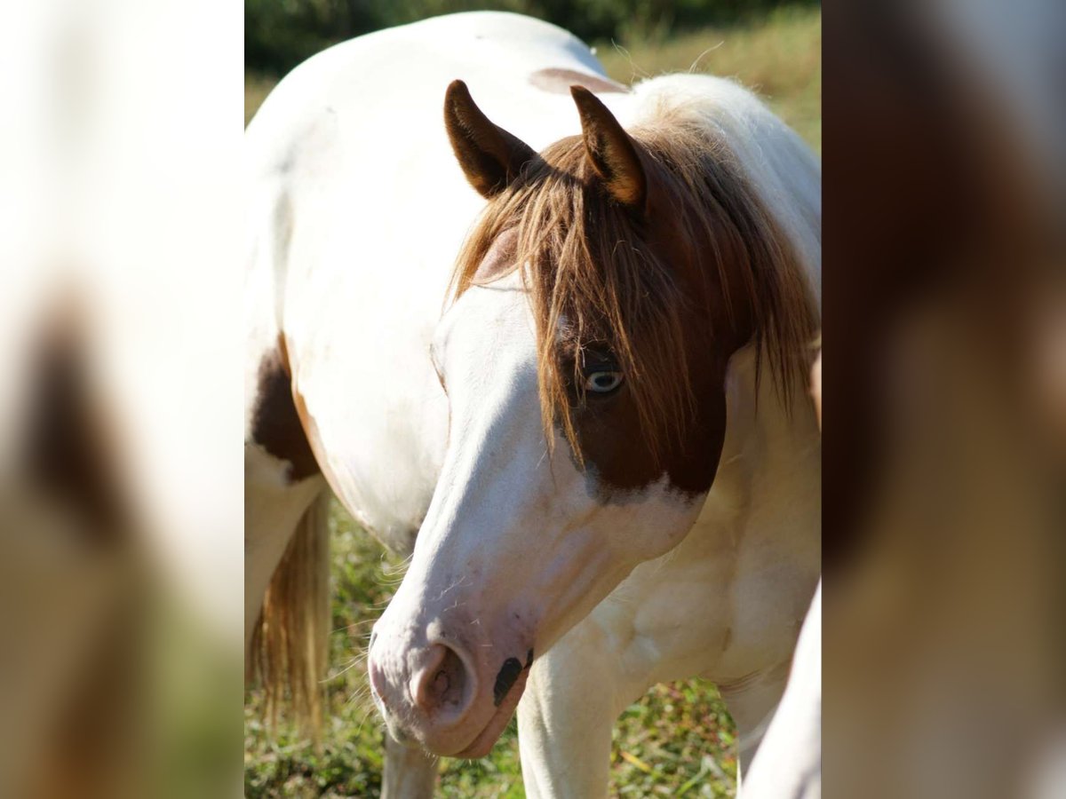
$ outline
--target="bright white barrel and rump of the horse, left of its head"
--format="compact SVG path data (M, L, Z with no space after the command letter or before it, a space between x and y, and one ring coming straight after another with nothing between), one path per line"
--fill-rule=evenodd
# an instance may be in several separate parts
M426 350L484 205L448 143L445 89L466 80L499 124L543 147L577 130L568 92L531 82L545 70L602 76L585 45L546 22L439 17L313 56L248 127L248 362L284 339L323 472L399 549L443 457L447 399ZM253 393L255 380L249 365Z

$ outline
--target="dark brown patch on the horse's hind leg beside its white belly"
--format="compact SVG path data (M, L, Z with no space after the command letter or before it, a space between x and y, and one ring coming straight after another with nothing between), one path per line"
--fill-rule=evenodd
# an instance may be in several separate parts
M292 393L285 339L259 364L259 397L252 424L252 440L276 458L291 464L289 477L301 480L320 473Z

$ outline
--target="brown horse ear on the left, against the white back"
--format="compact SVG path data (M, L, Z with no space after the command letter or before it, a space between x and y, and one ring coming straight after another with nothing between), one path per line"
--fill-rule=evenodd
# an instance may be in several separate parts
M502 192L536 158L532 147L489 121L463 81L452 81L445 93L445 127L463 173L483 197Z

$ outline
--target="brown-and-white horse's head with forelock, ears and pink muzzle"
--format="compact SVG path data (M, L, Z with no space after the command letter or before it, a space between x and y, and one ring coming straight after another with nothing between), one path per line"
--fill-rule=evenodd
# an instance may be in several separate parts
M571 89L581 134L537 153L456 81L445 121L487 206L432 358L449 443L369 670L392 734L481 756L537 653L681 541L718 467L730 357L781 390L813 316L785 239L698 114L628 131Z

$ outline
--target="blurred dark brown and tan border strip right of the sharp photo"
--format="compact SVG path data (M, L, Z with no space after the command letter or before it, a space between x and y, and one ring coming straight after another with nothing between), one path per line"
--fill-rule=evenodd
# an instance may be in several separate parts
M1064 13L825 9L828 796L1066 795Z

